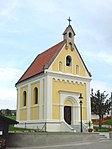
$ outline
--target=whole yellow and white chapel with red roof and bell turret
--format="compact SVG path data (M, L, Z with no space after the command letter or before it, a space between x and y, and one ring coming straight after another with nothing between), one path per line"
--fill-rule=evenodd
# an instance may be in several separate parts
M91 74L74 44L74 36L69 23L63 41L39 54L16 83L20 126L28 123L27 127L37 128L46 124L47 131L79 129L80 93L83 124L91 120Z

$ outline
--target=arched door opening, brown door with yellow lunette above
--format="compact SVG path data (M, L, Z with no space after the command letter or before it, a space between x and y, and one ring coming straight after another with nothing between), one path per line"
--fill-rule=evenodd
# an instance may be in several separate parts
M64 103L64 120L67 124L71 125L72 121L72 106L71 100L66 100Z

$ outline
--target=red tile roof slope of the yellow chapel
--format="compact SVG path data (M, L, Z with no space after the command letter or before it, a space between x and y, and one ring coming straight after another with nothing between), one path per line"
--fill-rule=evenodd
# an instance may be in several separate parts
M64 43L65 41L62 41L45 52L39 54L16 84L44 72L44 67L50 66L56 55L63 47Z

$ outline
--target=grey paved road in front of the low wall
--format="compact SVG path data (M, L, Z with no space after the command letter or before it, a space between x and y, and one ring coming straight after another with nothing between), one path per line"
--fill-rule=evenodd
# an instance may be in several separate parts
M99 142L85 142L75 144L63 144L42 147L24 147L7 149L112 149L112 140L101 140Z

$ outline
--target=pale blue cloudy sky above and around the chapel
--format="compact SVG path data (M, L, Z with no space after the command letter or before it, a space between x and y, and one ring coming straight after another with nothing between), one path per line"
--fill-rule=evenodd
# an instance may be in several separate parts
M112 0L0 0L0 109L16 109L15 83L34 58L63 40L67 19L92 74L112 91Z

